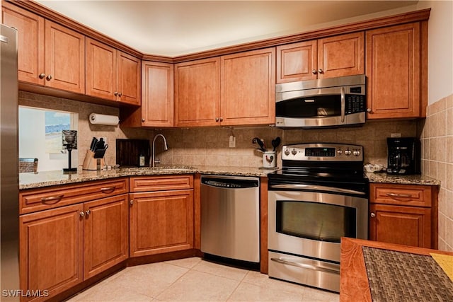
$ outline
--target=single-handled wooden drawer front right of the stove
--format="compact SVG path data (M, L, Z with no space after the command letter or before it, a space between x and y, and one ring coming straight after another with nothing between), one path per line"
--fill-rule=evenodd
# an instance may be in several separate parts
M369 185L369 202L413 207L431 207L432 187L425 185Z

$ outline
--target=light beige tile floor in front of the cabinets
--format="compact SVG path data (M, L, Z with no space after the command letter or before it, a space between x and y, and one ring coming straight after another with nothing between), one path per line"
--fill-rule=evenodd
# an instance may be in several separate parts
M339 301L339 295L192 257L127 267L79 301Z

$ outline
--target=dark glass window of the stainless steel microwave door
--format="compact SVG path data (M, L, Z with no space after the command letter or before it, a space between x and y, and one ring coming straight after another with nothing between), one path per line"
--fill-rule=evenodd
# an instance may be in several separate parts
M341 115L340 95L317 95L275 103L277 117L333 117Z

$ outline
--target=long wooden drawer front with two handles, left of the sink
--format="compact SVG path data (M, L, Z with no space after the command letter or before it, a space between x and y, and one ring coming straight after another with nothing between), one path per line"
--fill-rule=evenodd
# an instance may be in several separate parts
M20 214L88 202L129 192L127 178L78 182L74 185L46 187L19 192Z

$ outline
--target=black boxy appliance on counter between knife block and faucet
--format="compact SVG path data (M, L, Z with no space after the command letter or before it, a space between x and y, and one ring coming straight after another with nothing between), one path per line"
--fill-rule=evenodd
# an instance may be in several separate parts
M149 167L149 139L117 139L116 164L120 167Z

